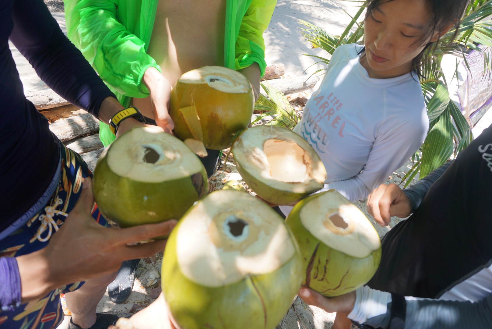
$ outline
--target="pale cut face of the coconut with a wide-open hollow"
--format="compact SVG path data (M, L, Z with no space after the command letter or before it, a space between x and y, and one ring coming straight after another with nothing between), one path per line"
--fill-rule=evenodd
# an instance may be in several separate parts
M250 128L240 136L234 158L252 176L283 191L304 193L326 179L326 170L317 158L313 161L307 142L289 131L255 130ZM306 144L306 148L301 145ZM295 183L295 184L292 184Z

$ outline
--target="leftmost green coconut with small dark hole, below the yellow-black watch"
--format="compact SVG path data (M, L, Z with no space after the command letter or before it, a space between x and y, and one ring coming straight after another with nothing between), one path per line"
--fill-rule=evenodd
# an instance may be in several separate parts
M101 154L92 186L104 217L130 227L180 219L207 194L207 174L178 138L133 128Z

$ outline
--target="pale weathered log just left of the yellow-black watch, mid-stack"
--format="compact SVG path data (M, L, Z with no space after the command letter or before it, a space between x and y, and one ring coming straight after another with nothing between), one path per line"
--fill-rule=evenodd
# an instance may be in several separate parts
M99 131L99 121L90 113L69 117L50 124L50 130L63 142Z

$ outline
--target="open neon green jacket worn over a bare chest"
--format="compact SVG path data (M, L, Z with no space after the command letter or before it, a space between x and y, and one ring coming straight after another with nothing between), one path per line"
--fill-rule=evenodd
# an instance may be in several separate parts
M123 106L149 95L142 77L160 67L147 54L157 0L64 0L68 38L82 51ZM227 0L224 66L242 69L253 63L265 73L263 32L277 0ZM100 125L107 146L114 135Z

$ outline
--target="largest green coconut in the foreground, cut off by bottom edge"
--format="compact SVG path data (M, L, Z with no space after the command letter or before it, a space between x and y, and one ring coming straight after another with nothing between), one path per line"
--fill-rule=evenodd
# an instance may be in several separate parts
M273 329L302 275L299 247L280 216L247 193L219 190L169 236L162 291L178 328Z

